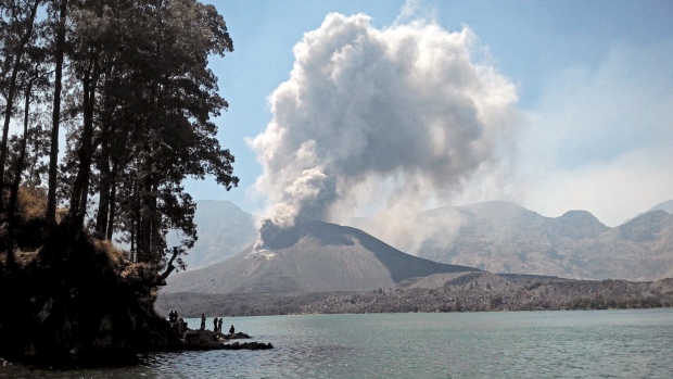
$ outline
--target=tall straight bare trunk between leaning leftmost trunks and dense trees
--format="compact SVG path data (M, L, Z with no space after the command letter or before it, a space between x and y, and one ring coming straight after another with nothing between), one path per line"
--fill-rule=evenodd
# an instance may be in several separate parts
M56 174L59 164L59 126L61 124L61 89L63 79L63 55L65 50L65 18L67 0L61 0L59 35L56 36L54 104L51 127L51 150L49 154L49 189L47 192L47 223L53 230L56 227Z

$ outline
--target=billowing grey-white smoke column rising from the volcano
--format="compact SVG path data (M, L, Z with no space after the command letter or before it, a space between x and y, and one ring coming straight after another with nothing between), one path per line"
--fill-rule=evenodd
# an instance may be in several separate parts
M472 60L474 35L412 22L382 30L329 14L294 47L274 119L249 141L268 195L257 248L297 223L368 204L420 210L494 159L515 118L516 87ZM398 214L399 215L399 214Z

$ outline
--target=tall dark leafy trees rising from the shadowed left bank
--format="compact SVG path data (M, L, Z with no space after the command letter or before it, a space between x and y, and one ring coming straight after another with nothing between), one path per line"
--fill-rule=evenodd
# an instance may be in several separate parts
M0 30L2 218L18 186L43 188L46 227L61 204L72 230L123 236L165 276L183 267L196 240L185 179L238 185L213 122L228 103L208 58L233 50L223 16L196 0L3 0Z

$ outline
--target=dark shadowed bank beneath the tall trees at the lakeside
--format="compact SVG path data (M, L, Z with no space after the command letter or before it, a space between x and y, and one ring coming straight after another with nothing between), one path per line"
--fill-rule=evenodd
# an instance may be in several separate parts
M0 356L88 366L173 349L178 334L153 309L156 270L64 224L37 252L0 255Z

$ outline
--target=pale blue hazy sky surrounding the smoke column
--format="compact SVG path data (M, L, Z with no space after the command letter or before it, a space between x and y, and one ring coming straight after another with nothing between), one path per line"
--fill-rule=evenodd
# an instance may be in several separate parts
M211 2L234 45L212 67L230 104L218 136L241 182L227 192L189 181L195 199L272 205L253 189L263 166L245 140L274 119L269 96L290 78L293 47L332 12L367 14L380 30L418 18L448 33L467 26L473 59L516 85L522 116L505 163L432 205L507 200L546 216L587 210L614 226L673 199L673 2L427 0L406 3L414 15L403 18L404 1Z

